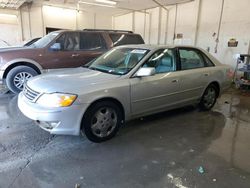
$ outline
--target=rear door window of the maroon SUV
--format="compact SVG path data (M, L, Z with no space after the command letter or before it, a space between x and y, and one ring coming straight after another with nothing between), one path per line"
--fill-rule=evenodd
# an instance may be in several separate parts
M99 33L81 33L81 50L102 50L106 49L104 39Z

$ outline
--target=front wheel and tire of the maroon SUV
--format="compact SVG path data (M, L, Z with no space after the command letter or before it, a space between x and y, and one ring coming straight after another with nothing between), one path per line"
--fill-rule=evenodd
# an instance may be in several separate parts
M38 75L38 73L33 68L28 66L17 66L11 69L10 72L7 74L6 84L7 87L13 93L19 93L23 90L23 84L20 83L20 87L17 87L17 85L19 86L19 84L17 84L17 81L15 79L15 78L21 79L20 77L21 74L23 75L23 77L26 78L24 79L23 84L31 77Z

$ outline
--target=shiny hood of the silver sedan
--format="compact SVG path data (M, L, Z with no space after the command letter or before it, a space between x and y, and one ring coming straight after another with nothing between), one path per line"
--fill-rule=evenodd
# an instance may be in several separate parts
M66 92L79 94L90 87L97 87L120 75L103 73L88 68L71 68L36 76L27 82L29 88L40 93Z

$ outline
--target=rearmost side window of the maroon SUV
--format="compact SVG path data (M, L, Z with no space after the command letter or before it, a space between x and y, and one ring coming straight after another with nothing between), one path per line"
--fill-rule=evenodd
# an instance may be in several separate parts
M140 35L130 35L122 33L109 34L114 46L126 45L126 44L144 44L144 41Z

